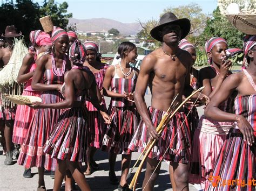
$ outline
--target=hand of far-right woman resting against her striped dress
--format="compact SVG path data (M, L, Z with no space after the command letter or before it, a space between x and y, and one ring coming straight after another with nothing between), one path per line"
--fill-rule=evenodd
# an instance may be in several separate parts
M241 115L236 117L237 119L237 126L241 131L242 135L244 136L244 140L247 141L247 144L252 146L254 143L254 135L253 135L253 128L251 124Z

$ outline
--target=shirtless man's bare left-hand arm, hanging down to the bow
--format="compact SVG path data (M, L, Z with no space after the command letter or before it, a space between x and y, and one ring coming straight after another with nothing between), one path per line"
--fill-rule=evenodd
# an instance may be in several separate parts
M145 56L145 58L143 59L134 92L134 101L140 116L146 124L150 138L158 140L160 135L157 133L156 128L154 127L154 124L149 115L149 112L147 111L147 105L144 98L147 84L150 79L150 73L153 71L153 66L155 63L156 58L154 58L154 56L151 54Z

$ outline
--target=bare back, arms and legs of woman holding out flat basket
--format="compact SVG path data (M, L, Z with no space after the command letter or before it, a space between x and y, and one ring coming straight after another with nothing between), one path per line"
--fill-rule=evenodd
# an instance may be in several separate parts
M77 90L87 91L90 90L90 96L92 99L92 104L100 111L105 122L110 124L111 119L106 114L104 107L99 104L97 91L98 87L95 81L94 75L90 71L80 70L80 69L72 69L65 73L64 76L65 81L65 100L58 103L52 104L43 104L37 102L30 107L34 109L38 108L52 108L52 109L64 109L64 108L72 108L75 105L81 104L80 102L76 102L75 93ZM82 190L90 190L89 185L86 182L85 176L82 172L82 169L79 165L79 162L72 162L68 160L58 160L58 166L55 172L55 182L53 186L53 190L60 190L62 186L63 178L66 174L66 168L69 169L73 178L77 182L78 186Z

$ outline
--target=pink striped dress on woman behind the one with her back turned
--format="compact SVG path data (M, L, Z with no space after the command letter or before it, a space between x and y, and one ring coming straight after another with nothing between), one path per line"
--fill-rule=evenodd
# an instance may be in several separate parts
M103 84L107 67L108 65L106 65L105 63L102 63L102 66L100 67L100 71L97 73L94 73L99 90L102 90L102 84ZM104 98L103 98L103 104L106 105ZM99 111L90 102L90 99L86 101L86 107L88 110L88 124L89 124L88 139L90 144L89 146L99 148L100 140L102 139L104 120L102 118L102 115L100 115Z

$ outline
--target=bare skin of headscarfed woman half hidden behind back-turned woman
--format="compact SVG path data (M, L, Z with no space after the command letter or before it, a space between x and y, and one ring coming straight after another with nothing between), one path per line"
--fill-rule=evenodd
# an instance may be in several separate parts
M99 62L96 60L97 58L97 52L93 49L87 49L86 50L86 61L84 62L84 66L87 66L93 74L100 72L100 68L102 66L102 62ZM103 91L101 90L101 94L103 96ZM93 164L95 167L98 166L98 164L93 159L93 156L95 155L97 149L96 147L89 147L87 151L87 169L85 171L85 175L91 174L91 164Z

